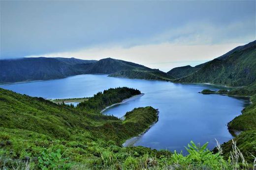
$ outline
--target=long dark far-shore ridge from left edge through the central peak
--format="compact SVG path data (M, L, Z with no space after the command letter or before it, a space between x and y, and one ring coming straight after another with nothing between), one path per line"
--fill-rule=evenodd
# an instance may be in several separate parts
M120 71L147 71L144 74L133 74L132 76L119 74ZM104 73L111 76L138 79L170 80L172 76L156 69L117 60L105 58L96 60L81 60L76 58L20 58L0 60L0 83L13 83L32 80L47 80L64 78L70 75Z

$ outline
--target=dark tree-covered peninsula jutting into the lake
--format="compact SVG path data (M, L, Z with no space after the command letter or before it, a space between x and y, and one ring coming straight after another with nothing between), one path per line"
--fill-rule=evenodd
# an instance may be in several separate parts
M120 103L126 98L140 94L139 90L128 87L111 88L104 90L103 93L98 92L94 97L90 97L87 101L80 102L77 105L77 108L84 109L86 111L101 111L107 106Z

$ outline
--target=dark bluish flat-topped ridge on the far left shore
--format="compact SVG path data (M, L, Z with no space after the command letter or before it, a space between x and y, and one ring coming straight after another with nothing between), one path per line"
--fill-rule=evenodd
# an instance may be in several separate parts
M75 58L20 58L0 60L0 83L64 78L85 73L94 60Z

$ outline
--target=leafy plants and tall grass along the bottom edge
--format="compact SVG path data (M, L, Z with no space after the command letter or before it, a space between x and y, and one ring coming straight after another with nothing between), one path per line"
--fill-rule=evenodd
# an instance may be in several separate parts
M217 141L217 140L216 140ZM217 153L207 149L208 143L200 146L192 141L186 147L188 155L174 151L170 156L164 155L164 151L160 156L144 154L129 154L109 148L102 148L96 163L94 161L85 160L86 163L76 163L69 161L65 157L65 152L61 154L61 150L56 152L44 150L42 155L38 157L37 162L30 160L12 160L0 156L0 170L255 170L256 158L253 165L248 164L242 152L236 146L236 142L232 141L232 151L230 151L228 160L224 160L222 155L223 148L217 141ZM132 149L132 148L130 148ZM135 148L134 148L135 149ZM96 158L92 158L96 159Z

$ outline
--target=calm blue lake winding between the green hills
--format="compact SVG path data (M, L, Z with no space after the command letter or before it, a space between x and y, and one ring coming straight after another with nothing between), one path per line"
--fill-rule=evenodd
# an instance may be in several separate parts
M226 123L241 114L248 100L221 95L198 94L203 89L217 90L210 85L184 85L164 81L107 77L107 75L76 75L64 79L1 85L21 94L44 98L91 97L113 87L133 87L145 95L107 109L105 114L122 117L135 107L152 106L159 109L159 121L150 128L135 146L147 146L171 151L185 150L192 140L209 142L215 138L227 142L232 138Z

